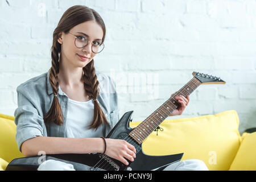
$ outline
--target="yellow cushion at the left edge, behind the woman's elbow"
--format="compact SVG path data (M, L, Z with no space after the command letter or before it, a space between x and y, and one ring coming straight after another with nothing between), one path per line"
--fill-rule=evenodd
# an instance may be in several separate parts
M18 144L15 140L16 125L14 117L6 114L0 114L0 158L10 163L15 158L24 157L18 150Z

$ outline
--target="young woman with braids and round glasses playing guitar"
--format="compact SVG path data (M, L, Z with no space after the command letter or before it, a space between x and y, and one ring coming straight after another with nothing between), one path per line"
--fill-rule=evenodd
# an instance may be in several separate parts
M61 17L53 32L52 67L17 88L16 142L24 156L39 151L105 152L126 165L126 159L134 161L132 144L104 138L119 121L114 81L94 69L94 56L104 49L105 34L101 16L86 6L72 6ZM172 115L181 114L189 102L189 97L176 99L181 106ZM184 166L207 169L200 160L177 162L167 169Z

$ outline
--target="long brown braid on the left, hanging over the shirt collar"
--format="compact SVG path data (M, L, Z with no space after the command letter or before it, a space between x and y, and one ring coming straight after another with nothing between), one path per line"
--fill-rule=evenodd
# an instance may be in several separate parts
M55 44L51 48L52 67L49 69L49 82L52 86L54 95L57 95L57 93L59 92L59 82L58 82L59 52L60 52L60 48L58 47L58 43L57 43L57 45ZM56 125L62 125L64 123L63 113L61 111L59 99L54 96L53 96L51 108L49 109L48 113L44 115L44 122L46 124L52 121L56 123Z

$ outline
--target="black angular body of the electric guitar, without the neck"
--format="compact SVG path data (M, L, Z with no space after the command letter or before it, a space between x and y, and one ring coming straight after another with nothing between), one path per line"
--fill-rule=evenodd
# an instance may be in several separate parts
M129 121L131 118L131 114L133 111L129 111L123 114L122 118L118 121L117 125L110 131L106 138L113 138L113 139L125 139L127 142L134 145L137 149L136 158L134 162L129 162L129 165L126 166L119 160L109 158L108 156L104 155L104 157L100 156L99 154L48 154L46 155L46 160L48 159L61 159L66 160L68 162L73 162L74 168L76 168L76 163L85 164L89 166L89 170L135 170L135 171L149 171L149 170L157 170L162 169L168 166L171 163L178 162L181 160L183 153L175 154L175 155L163 155L163 156L152 156L144 154L142 150L142 145L137 144L132 140L128 134L131 132ZM6 168L6 171L11 170L36 170L39 167L38 161L39 158L42 156L31 156L26 158L18 158L12 160ZM110 160L109 160L110 159ZM118 167L118 168L117 168Z

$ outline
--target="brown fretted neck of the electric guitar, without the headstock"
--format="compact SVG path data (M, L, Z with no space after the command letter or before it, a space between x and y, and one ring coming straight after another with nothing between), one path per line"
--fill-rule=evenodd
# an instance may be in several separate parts
M150 114L141 124L135 127L130 133L130 137L133 138L137 143L141 144L147 137L154 131L160 123L164 121L174 111L179 107L179 102L175 100L176 96L187 97L191 94L201 82L193 77L187 84L183 86L179 91L177 91L174 96L170 97L164 104L162 104L158 109L156 109L152 114Z

